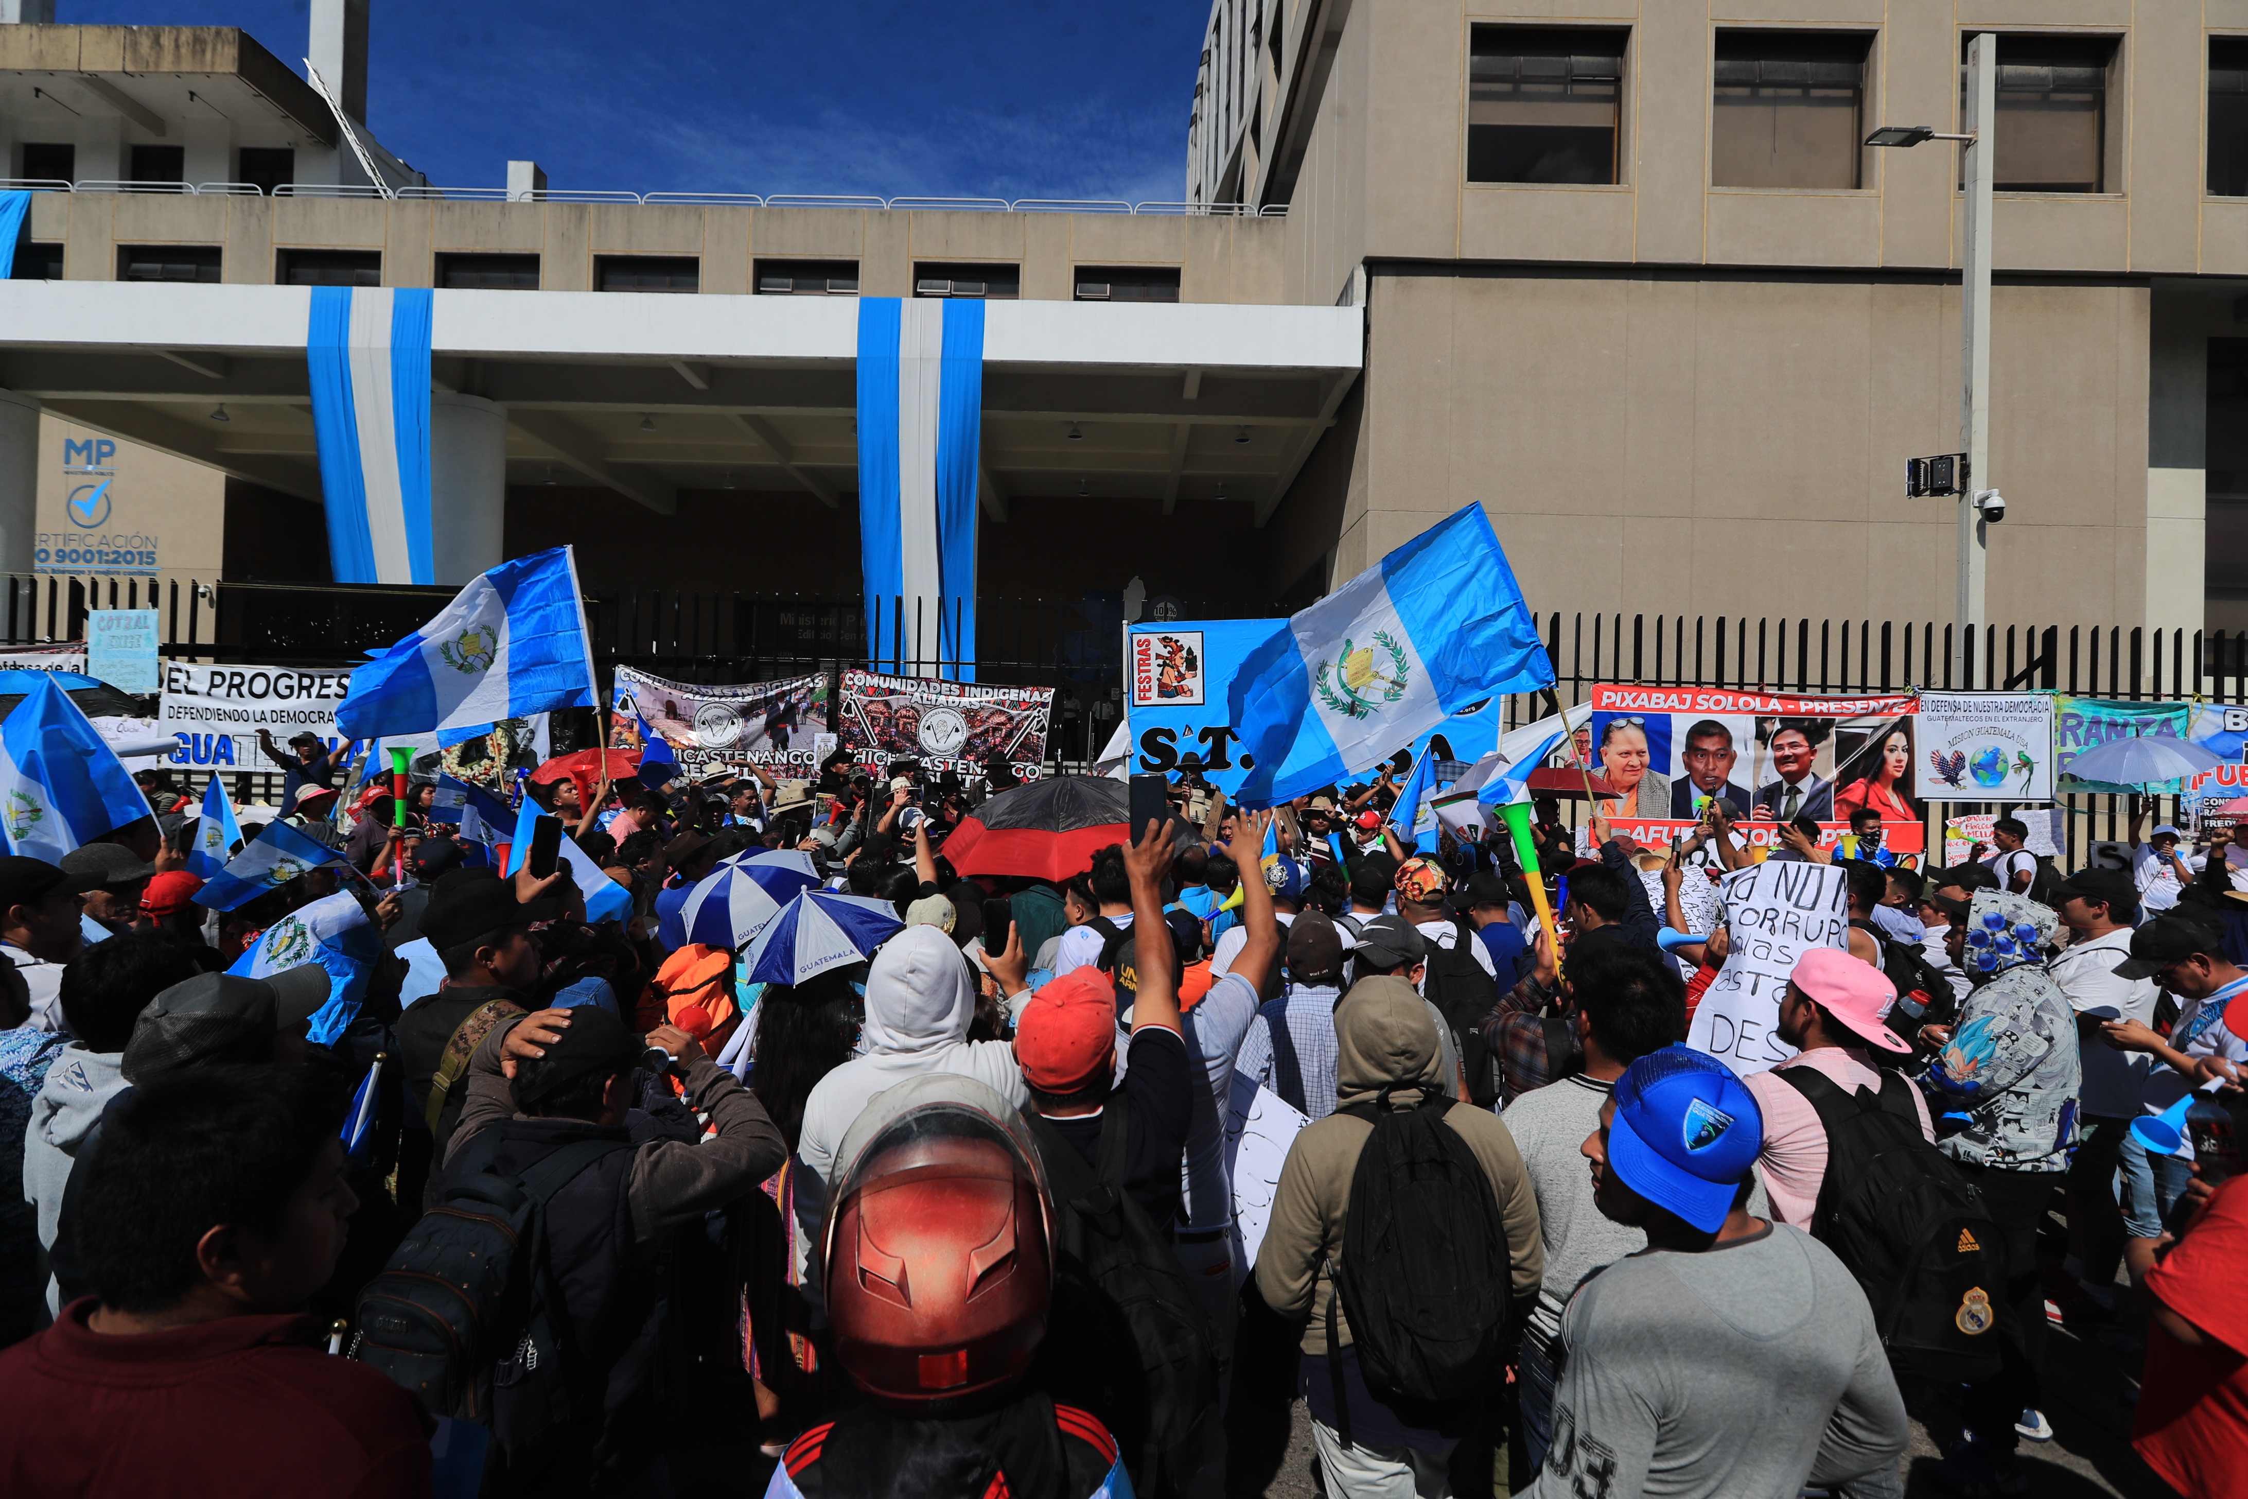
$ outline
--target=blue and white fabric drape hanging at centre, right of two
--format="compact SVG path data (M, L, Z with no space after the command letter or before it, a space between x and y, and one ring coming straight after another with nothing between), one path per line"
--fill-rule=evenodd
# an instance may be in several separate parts
M980 301L859 299L859 557L877 670L976 674L982 324Z

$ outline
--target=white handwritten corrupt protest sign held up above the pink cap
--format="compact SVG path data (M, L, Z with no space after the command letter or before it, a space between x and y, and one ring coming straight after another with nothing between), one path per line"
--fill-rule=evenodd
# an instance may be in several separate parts
M1717 883L1733 946L1686 1027L1686 1045L1733 1072L1796 1054L1778 1038L1780 993L1796 960L1839 948L1850 930L1850 874L1832 863L1767 858Z

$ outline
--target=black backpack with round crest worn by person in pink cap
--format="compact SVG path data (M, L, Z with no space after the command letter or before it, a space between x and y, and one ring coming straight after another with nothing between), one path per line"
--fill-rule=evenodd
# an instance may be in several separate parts
M1902 1375L1974 1384L1998 1373L2005 1247L1983 1193L1929 1144L1911 1083L1843 1092L1816 1068L1776 1068L1828 1137L1812 1238L1857 1277L1888 1364Z

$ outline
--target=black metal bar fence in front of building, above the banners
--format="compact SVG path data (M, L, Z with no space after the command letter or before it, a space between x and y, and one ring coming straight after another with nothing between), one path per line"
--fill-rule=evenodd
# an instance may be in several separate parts
M7 645L83 641L88 609L157 609L171 658L333 667L411 634L452 593L450 587L7 575L0 625ZM1180 607L1189 620L1239 614ZM2043 688L2248 703L2248 632L1987 625L1974 632L1956 667L1956 627L1927 620L1558 611L1538 618L1562 703L1585 701L1601 681L1771 692ZM587 596L587 627L602 676L618 665L699 683L859 665L940 676L962 665L935 607L910 598L883 598L868 611L859 596L632 589ZM1054 688L1048 757L1081 766L1099 755L1122 712L1122 627L1115 593L980 598L969 665L978 681ZM1506 703L1508 726L1542 712L1540 697ZM2064 805L2070 861L2082 858L2088 841L2127 832L2127 798L2070 796ZM1949 802L1931 816L2003 807ZM2176 814L2172 798L2156 807L2156 816ZM1942 827L1931 825L1929 836L1940 838Z

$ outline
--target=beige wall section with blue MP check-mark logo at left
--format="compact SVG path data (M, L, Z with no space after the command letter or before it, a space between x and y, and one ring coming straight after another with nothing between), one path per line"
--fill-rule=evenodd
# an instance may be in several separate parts
M65 452L65 443L108 447ZM99 467L110 472L70 472L88 467L88 458L103 458ZM72 497L79 499L76 512ZM310 515L317 524L317 512ZM88 519L94 524L88 526ZM211 580L218 578L225 521L227 479L216 467L121 443L52 414L38 418L36 571ZM103 551L112 560L88 560L88 553ZM155 566L119 564L115 553L155 553Z

